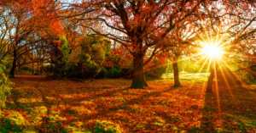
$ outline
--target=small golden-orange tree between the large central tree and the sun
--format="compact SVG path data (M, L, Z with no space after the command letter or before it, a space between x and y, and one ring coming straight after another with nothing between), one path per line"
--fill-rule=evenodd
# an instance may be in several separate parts
M198 19L198 18L194 18ZM195 51L195 45L193 45L190 39L195 36L195 22L183 21L183 25L177 25L171 33L166 36L166 41L163 44L163 52L167 53L166 58L172 61L172 69L174 75L174 86L182 86L179 80L179 68L178 58L188 58Z

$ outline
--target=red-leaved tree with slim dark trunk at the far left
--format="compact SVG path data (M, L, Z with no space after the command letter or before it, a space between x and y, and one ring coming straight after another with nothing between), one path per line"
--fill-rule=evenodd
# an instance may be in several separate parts
M3 14L9 16L6 26L9 30L9 44L11 44L12 68L10 75L15 76L17 61L23 54L31 51L30 45L38 40L29 42L28 38L43 27L49 29L50 34L57 35L61 32L59 21L55 20L55 0L43 1L16 1L1 0L0 8L4 9ZM7 19L5 19L7 20ZM28 49L25 47L29 47Z

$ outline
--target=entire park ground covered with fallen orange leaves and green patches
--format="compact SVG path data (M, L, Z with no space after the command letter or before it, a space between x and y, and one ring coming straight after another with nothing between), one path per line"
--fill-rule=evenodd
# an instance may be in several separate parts
M172 80L52 80L17 75L0 132L256 132L256 92Z

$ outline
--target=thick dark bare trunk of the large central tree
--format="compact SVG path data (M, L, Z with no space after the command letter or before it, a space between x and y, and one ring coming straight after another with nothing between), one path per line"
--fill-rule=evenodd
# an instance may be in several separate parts
M133 59L133 79L131 83L131 88L141 88L148 86L146 82L144 69L143 69L143 55L135 56Z

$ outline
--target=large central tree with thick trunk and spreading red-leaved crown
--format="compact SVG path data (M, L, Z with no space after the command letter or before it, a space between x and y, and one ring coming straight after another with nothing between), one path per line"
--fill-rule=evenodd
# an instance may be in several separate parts
M133 57L131 88L148 86L143 66L161 50L161 42L183 20L191 21L201 1L90 0L73 5L81 25L119 42ZM88 21L87 21L88 20ZM87 22L87 23L86 23ZM96 27L95 23L101 23ZM150 53L144 60L146 53Z

